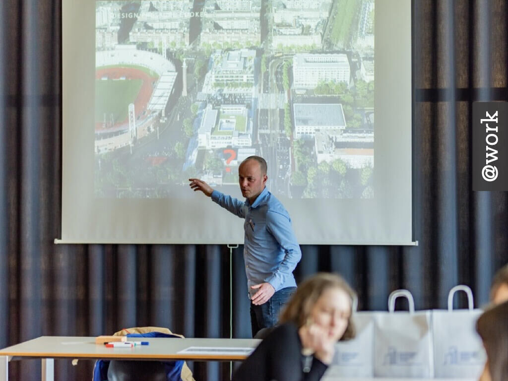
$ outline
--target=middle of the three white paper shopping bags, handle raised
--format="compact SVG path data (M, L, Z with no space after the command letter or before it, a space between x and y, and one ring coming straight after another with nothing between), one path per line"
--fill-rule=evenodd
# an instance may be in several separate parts
M407 298L409 312L394 312L398 297ZM430 311L415 312L415 302L407 290L391 293L388 309L375 313L374 376L433 377Z

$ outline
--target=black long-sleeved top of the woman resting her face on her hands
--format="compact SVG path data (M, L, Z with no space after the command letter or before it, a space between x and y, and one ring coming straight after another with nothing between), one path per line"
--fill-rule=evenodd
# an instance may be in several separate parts
M298 329L286 323L258 345L235 371L233 381L316 381L327 367L312 356L302 355Z

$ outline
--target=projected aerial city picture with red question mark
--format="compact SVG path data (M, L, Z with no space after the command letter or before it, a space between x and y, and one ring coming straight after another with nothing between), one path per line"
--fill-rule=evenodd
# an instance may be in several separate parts
M94 194L374 197L374 0L96 2Z

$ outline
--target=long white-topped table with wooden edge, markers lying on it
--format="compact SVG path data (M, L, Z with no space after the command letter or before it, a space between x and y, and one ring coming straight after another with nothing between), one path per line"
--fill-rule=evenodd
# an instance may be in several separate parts
M148 341L149 345L139 345L132 348L108 348L104 344L96 344L95 337L41 336L9 346L0 350L0 381L8 381L8 363L12 359L40 358L42 380L53 381L55 358L232 361L244 360L247 356L241 353L241 348L255 348L261 341L256 339L147 337L130 338L129 340ZM210 351L179 353L189 347L207 347L210 348Z

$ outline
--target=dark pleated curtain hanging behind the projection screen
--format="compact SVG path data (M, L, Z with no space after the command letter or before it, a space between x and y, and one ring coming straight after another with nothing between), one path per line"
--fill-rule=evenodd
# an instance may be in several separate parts
M469 285L477 306L508 262L505 192L471 190L474 101L506 101L504 0L415 0L413 215L419 245L302 246L297 280L337 271L360 308L386 309L399 288L417 309L443 308ZM0 1L0 347L41 335L94 336L158 325L189 337L249 337L242 247L55 245L61 200L61 4ZM218 213L224 212L217 210ZM459 305L463 304L459 298ZM20 365L21 364L21 365ZM56 379L87 380L92 364L55 362ZM40 363L11 363L37 379ZM229 364L195 363L198 380Z

